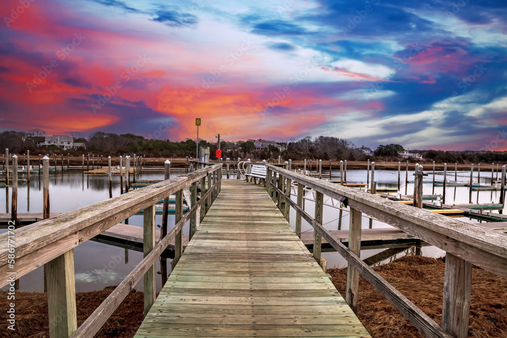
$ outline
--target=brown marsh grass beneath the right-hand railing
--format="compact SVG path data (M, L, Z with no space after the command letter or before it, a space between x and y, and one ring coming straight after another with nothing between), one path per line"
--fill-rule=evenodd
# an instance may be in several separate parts
M438 324L442 319L445 263L442 259L408 256L375 267L380 276ZM345 297L347 269L328 269ZM422 338L363 277L359 280L357 316L372 337ZM507 280L476 268L472 273L469 337L507 337Z

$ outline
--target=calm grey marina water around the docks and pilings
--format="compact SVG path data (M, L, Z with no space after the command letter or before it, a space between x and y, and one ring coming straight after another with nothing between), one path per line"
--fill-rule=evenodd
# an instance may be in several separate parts
M173 172L171 177L181 175L182 172ZM333 172L338 175L338 172ZM348 170L348 182L364 182L366 183L366 170ZM26 177L26 174L21 177ZM454 180L454 172L448 173L448 179ZM157 171L152 173L143 173L138 179L162 179L163 172ZM413 179L413 171L409 172L409 180ZM431 174L425 177L431 180ZM437 175L437 180L442 180L443 175ZM469 172L458 173L458 180L467 181ZM378 182L377 187L396 187L397 171L375 171L375 180ZM477 181L477 173L474 175L474 181ZM491 173L489 177L487 173L482 173L481 182L489 184L491 181ZM402 171L401 176L402 194L405 194L405 172ZM245 183L246 184L246 183ZM423 184L424 194L431 194L431 184ZM408 194L413 193L413 184L407 186ZM11 194L9 190L9 195ZM0 189L0 212L6 212L6 189ZM442 194L443 187L435 187L435 194ZM447 187L446 203L468 203L467 187ZM114 176L113 196L120 195L119 176ZM477 203L498 203L499 191L481 191L473 192L473 202ZM27 183L20 183L18 190L18 213L22 212L42 212L42 181L39 181L37 174L31 174L29 186ZM51 172L50 173L50 205L51 212L67 212L75 210L93 203L97 203L109 198L108 178L107 175L84 175L79 171ZM10 199L10 196L9 196ZM293 199L296 199L293 197ZM9 201L10 209L10 201ZM305 202L305 209L314 209L314 203ZM504 211L505 213L505 211ZM348 229L349 224L348 212L342 215L342 230ZM323 223L328 230L338 229L339 210L324 206ZM296 214L291 209L291 224L295 227ZM470 223L478 223L478 220L469 219L467 217L458 218ZM162 223L162 216L156 215L156 223ZM129 224L142 227L142 216L132 216L129 218ZM169 229L174 227L174 215L169 215ZM372 228L386 228L387 224L373 220ZM369 218L363 217L363 228L369 228ZM0 233L6 230L0 230ZM185 234L188 234L188 224L184 228ZM313 231L313 228L302 221L302 231ZM361 258L372 256L383 249L378 250L362 250ZM440 257L444 251L428 246L422 248L422 254L431 257ZM400 254L401 255L401 254ZM322 257L328 260L328 267L345 267L346 262L337 252L323 252ZM87 241L74 249L75 273L76 273L76 291L90 291L103 289L108 285L119 284L142 260L142 252L131 249L111 246L103 243ZM167 269L170 272L170 259L167 262ZM157 271L157 292L162 287L160 276L160 261L156 262ZM5 289L5 288L4 288ZM32 271L23 276L19 281L19 289L21 291L44 291L44 272L43 268ZM142 280L136 285L137 290L142 290Z

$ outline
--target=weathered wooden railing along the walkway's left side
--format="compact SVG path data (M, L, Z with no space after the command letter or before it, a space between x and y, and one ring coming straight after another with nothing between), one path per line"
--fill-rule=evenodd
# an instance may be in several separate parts
M155 261L175 239L177 262L183 252L183 226L189 220L190 237L196 231L196 211L201 219L220 193L222 165L203 164L202 169L149 185L143 189L95 203L84 208L48 218L15 230L15 250L7 245L0 250L0 287L44 265L48 290L48 313L51 337L92 337L113 314L123 299L144 279L144 314L155 301ZM208 189L205 189L206 177ZM197 202L197 182L201 184L201 199ZM212 184L211 184L212 182ZM183 189L191 185L192 205L183 215ZM155 245L155 204L176 195L175 226ZM115 224L143 212L144 258L118 285L104 302L77 328L74 280L74 248L111 228ZM0 243L8 243L8 233L0 235ZM14 251L14 252L12 252ZM15 255L15 270L8 261ZM13 273L15 271L15 274ZM10 273L10 274L9 274Z

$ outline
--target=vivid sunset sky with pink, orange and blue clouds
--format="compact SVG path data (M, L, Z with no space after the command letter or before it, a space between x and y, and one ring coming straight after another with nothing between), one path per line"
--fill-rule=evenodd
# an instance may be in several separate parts
M2 0L0 131L507 149L507 2Z

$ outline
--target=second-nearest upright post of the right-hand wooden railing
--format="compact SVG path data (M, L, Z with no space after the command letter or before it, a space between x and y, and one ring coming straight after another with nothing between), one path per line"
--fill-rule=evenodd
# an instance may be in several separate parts
M348 248L356 256L361 253L361 211L350 208ZM359 291L359 272L350 263L347 265L347 290L345 300L354 313L357 313L357 295Z

